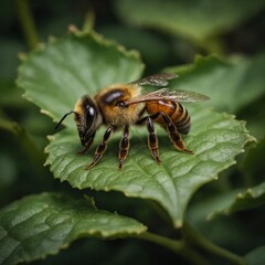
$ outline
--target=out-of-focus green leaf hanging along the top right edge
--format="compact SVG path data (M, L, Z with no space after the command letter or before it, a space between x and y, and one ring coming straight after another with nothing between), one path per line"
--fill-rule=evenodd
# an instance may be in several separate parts
M195 42L231 31L263 8L263 0L116 0L117 13L124 21L161 29Z

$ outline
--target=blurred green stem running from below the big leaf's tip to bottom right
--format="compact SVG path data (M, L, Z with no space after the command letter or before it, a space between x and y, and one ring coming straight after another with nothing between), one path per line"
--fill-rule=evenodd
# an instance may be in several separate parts
M246 261L242 256L236 255L227 250L222 248L221 246L215 245L187 223L183 226L182 233L184 241L189 242L192 245L199 246L200 248L206 251L208 253L223 257L230 261L231 264L237 265L246 264Z

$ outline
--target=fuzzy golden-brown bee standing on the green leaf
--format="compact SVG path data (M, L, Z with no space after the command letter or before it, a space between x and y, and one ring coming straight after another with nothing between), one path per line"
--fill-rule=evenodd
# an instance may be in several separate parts
M87 169L93 168L100 160L113 131L124 129L118 153L118 169L121 170L130 147L129 127L131 125L147 126L148 147L158 163L161 160L153 123L166 129L174 148L187 153L193 153L187 149L181 138L181 134L187 135L191 127L190 115L181 102L202 102L209 99L209 97L190 91L166 88L168 81L176 77L178 77L176 74L161 73L127 84L107 86L94 97L85 95L77 100L74 110L66 113L60 119L55 128L68 115L74 114L81 144L84 147L80 153L85 153L93 144L96 130L102 125L107 126L102 141L95 150L94 159L87 166ZM141 91L145 85L159 86L160 89L142 94Z

